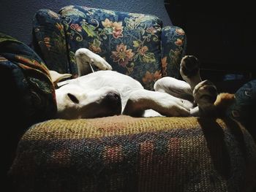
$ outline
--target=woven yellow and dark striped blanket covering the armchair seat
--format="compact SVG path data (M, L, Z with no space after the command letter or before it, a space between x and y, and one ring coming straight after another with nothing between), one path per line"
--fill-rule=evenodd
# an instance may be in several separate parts
M48 120L23 136L10 174L18 191L249 191L255 154L230 119Z

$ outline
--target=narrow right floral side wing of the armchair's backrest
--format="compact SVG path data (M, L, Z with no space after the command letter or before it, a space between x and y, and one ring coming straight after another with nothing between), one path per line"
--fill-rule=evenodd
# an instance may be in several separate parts
M179 67L185 54L187 38L184 30L177 26L162 28L162 76L180 79Z

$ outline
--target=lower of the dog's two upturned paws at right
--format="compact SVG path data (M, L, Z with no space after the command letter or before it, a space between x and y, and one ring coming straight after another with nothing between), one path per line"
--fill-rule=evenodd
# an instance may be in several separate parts
M206 112L214 106L217 99L217 88L211 81L204 80L195 86L193 96L200 110Z

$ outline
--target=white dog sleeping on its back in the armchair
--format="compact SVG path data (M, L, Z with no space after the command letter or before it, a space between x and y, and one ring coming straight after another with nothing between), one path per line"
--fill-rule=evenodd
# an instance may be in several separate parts
M78 78L61 81L71 74L50 71L53 83L59 86L56 88L57 118L121 114L135 117L216 116L233 101L233 95L218 95L212 82L201 80L199 62L192 55L181 60L180 73L184 81L162 77L155 82L155 91L144 89L132 77L111 71L107 61L86 48L76 51L75 61ZM92 72L91 65L100 70Z

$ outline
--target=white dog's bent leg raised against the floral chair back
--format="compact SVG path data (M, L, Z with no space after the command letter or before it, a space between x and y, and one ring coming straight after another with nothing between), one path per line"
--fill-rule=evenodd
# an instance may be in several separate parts
M86 48L80 48L75 52L75 62L78 66L79 77L92 72L90 65L97 66L100 70L112 70L104 58Z

